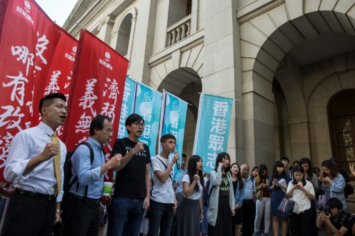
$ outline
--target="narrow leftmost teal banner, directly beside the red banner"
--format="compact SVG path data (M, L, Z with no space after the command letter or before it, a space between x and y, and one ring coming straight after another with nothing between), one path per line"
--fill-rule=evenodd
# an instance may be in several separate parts
M127 129L125 129L125 119L135 110L136 84L134 80L125 78L125 89L123 91L123 100L121 108L121 117L119 119L119 135L117 138L128 137Z

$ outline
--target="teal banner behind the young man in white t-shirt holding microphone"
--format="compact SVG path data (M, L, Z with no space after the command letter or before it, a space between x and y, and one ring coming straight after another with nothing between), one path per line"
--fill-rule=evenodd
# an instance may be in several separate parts
M187 102L164 91L162 102L162 113L160 114L159 140L164 134L173 134L176 138L175 149L180 154L180 166L182 158L182 145L184 143L184 131L186 124ZM162 149L162 147L160 147ZM173 158L173 153L169 158ZM174 165L174 178L178 169ZM180 181L180 180L179 180Z

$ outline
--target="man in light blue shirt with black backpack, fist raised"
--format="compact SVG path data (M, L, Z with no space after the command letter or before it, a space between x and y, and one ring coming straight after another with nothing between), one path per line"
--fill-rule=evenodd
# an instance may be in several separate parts
M80 145L71 156L71 181L76 178L78 181L69 190L70 195L64 207L63 219L67 224L65 235L98 235L103 174L121 163L118 155L112 156L105 163L103 145L110 143L112 133L111 119L103 115L96 116L90 124L90 137L87 139L94 151L93 163L91 164L90 150L86 145Z

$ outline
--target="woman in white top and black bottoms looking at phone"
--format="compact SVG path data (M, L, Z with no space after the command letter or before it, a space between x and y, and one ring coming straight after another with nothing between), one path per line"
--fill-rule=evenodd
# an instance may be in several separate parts
M295 214L290 216L291 235L311 236L311 200L315 199L313 184L306 180L301 165L293 168L293 181L288 183L286 196L297 203Z

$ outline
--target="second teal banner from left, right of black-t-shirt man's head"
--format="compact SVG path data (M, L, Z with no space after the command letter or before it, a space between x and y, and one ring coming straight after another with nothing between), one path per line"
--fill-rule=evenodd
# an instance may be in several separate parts
M144 118L146 127L144 127L143 135L139 138L139 141L148 145L150 156L156 154L161 107L162 93L147 87L145 84L137 83L134 113Z

